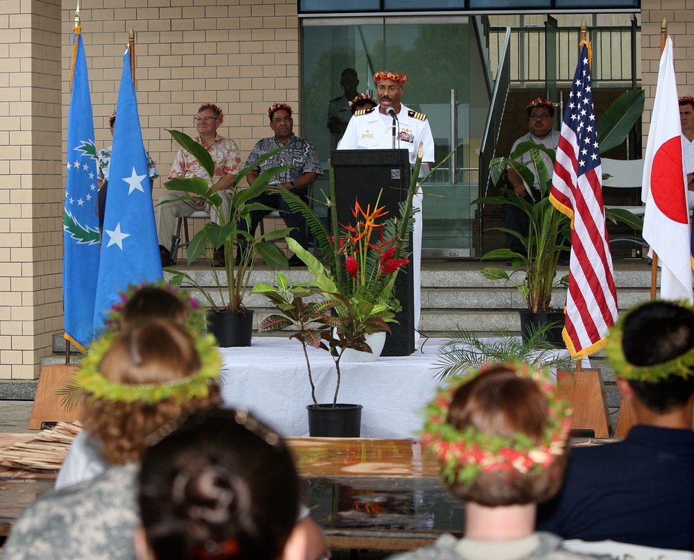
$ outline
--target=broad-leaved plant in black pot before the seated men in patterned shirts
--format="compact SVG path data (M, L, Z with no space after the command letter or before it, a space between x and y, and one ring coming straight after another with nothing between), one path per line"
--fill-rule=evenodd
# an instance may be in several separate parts
M191 137L178 130L169 130L171 136L176 139L176 142L189 151L202 165L203 169L208 172L209 176L214 175L214 162L210 153L203 146L195 142ZM278 151L275 149L262 155L258 163L273 157ZM248 287L248 282L251 278L253 270L253 262L255 256L262 257L264 262L271 268L276 269L278 266L287 268L287 257L276 246L276 244L267 239L276 239L285 237L289 234L289 228L283 228L271 232L266 232L264 235L254 237L249 233L248 226L246 230L239 228L239 222L245 221L247 224L251 222L251 212L253 210L272 210L269 207L258 203L251 203L252 198L259 196L267 188L273 177L278 173L289 169L289 167L272 167L266 169L258 178L253 181L253 185L248 188L241 188L243 178L251 168L239 171L236 183L231 191L230 208L226 216L223 216L221 223L212 221L205 224L205 227L196 233L191 239L187 251L187 262L191 264L198 256L205 251L206 244L210 243L214 248L224 248L224 271L226 272L226 294L222 287L222 282L219 278L217 269L212 267L214 282L217 286L217 293L221 300L221 305L217 305L212 294L207 289L202 287L189 274L176 270L167 272L173 273L170 283L174 287L186 285L194 287L203 294L205 299L210 304L213 313L210 314L210 330L217 336L219 346L251 346L251 335L253 332L253 310L246 309L243 304L244 294ZM179 198L185 200L201 200L214 208L217 208L221 214L222 198L218 192L215 192L208 181L204 178L174 178L167 183L164 183L167 189L171 191L181 192ZM240 264L235 263L234 248L237 237L242 236L246 239L248 250L244 251Z

